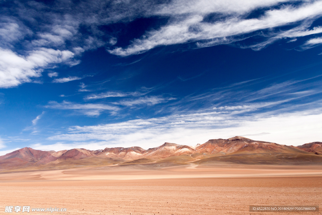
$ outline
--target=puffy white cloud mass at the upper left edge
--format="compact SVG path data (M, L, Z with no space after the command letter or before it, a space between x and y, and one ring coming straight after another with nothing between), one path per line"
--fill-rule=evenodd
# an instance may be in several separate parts
M71 49L75 51L74 54L65 46L66 40L78 34L79 23L68 15L48 19L49 13L42 11L43 5L34 4L35 8L39 9L36 14L44 15L38 18L47 18L45 23L53 22L49 25L39 23L37 30L41 32L37 30L33 32L25 25L26 20L33 20L31 22L34 23L38 18L33 17L35 15L33 9L26 9L23 4L20 5L22 8L18 9L18 14L22 17L3 14L0 18L0 88L16 87L22 83L32 82L33 78L41 76L44 69L55 67L57 64L73 66L80 63L74 59L74 55L79 54L82 48L76 46L77 50ZM17 8L11 8L10 11L15 9ZM36 39L29 41L26 39L27 35ZM16 44L21 47L19 53L16 52Z

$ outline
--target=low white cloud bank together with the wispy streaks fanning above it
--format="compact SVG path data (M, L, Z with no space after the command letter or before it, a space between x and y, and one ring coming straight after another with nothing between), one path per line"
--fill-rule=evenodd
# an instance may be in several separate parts
M321 141L322 100L310 100L310 96L322 93L320 77L276 83L247 93L243 85L263 85L263 80L245 81L165 104L163 109L170 114L164 117L71 126L48 139L65 141L66 147L80 144L88 149L135 145L150 148L163 142L195 145L236 135L287 145ZM296 99L301 103L292 103ZM230 105L223 105L223 100Z

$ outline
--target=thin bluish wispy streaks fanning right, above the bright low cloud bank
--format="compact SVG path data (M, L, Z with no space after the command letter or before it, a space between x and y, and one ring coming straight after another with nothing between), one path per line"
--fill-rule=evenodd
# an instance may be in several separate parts
M312 79L315 79L315 81L312 81ZM293 101L299 99L303 100L305 98L309 101L313 95L322 93L318 87L319 84L321 84L321 76L268 85L266 85L265 79L254 79L232 84L225 88L214 88L205 93L186 96L173 103L166 104L162 111L172 112L174 110L192 110L198 108L212 109L213 107L236 107L244 105L264 105L263 107L269 109L282 103L292 107L290 104ZM249 85L261 88L252 91L249 89ZM295 108L296 106L293 107Z

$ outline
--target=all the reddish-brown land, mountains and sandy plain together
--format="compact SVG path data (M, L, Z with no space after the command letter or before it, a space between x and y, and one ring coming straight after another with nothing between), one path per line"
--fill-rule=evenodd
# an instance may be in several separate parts
M0 214L8 214L5 206L17 205L66 208L52 213L84 215L322 214L321 209L249 211L250 205L321 206L320 145L309 143L302 150L242 138L192 148L165 143L137 159L125 159L132 152L122 150L129 148L120 148L119 153L99 150L98 155L80 159L51 157L68 155L67 150L48 152L46 157L47 152L24 148L0 157ZM71 152L80 157L78 152L84 150ZM41 158L27 161L30 153L33 159L40 154Z

